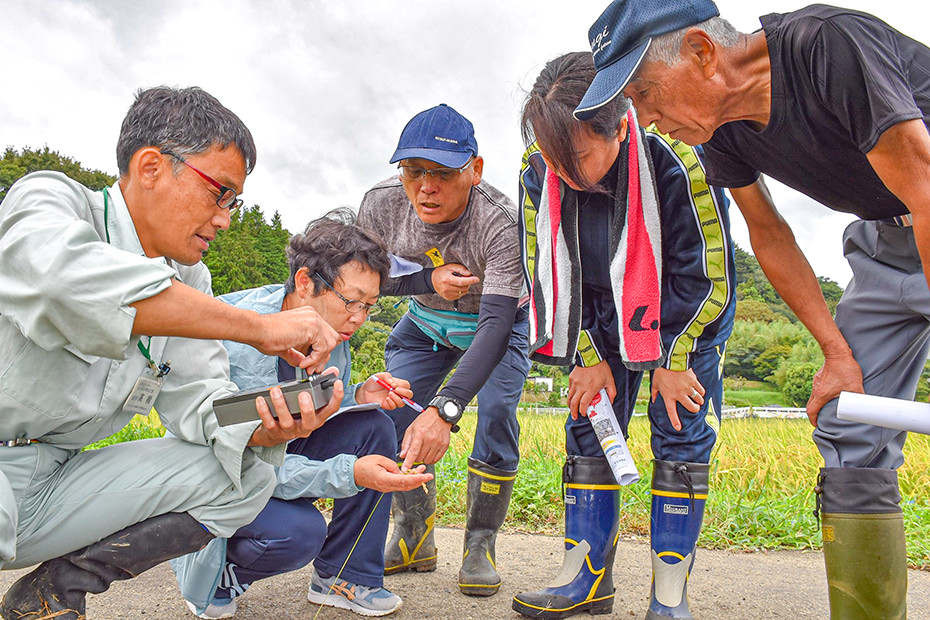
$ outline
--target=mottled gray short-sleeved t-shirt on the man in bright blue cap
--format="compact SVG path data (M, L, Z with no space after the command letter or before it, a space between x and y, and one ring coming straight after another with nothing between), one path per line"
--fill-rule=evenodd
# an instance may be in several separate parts
M520 298L523 293L517 209L484 181L471 189L457 219L426 224L393 176L366 192L358 224L380 235L392 254L424 267L461 263L481 279L457 305L436 294L417 295L428 308L478 314L482 294Z

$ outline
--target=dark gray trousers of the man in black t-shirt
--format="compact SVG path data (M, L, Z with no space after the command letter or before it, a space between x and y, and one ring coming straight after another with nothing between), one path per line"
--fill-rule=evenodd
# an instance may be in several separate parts
M865 392L911 400L930 347L930 289L914 229L857 220L843 234L852 281L836 324L862 367ZM930 258L930 257L928 257ZM834 399L820 411L814 442L826 467L897 469L907 433L840 420Z

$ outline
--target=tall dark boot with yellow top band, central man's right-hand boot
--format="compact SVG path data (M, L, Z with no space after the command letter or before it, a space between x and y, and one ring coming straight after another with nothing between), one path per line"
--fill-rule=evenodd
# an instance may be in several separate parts
M504 523L517 472L468 459L468 518L459 589L469 596L491 596L501 586L494 542Z

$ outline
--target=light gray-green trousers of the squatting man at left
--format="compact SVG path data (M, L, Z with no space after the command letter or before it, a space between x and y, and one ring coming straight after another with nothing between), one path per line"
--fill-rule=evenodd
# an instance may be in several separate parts
M240 493L212 448L175 437L86 452L0 447L0 567L44 562L167 512L229 537L261 512L274 483L274 468L246 450Z

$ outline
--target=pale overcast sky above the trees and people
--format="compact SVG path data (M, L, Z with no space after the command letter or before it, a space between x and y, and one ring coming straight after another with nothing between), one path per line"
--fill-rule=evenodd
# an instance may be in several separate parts
M793 0L722 0L743 31ZM258 145L247 204L296 232L393 173L407 120L447 103L475 125L485 179L516 199L519 114L545 62L589 49L606 0L0 0L0 148L42 147L116 173L119 125L140 87L204 88ZM930 43L913 0L870 11ZM921 8L915 8L921 6ZM775 183L779 210L818 275L845 286L836 214ZM733 235L749 249L733 207Z

